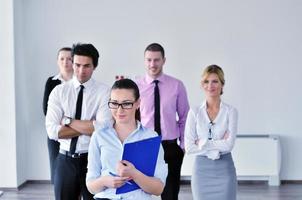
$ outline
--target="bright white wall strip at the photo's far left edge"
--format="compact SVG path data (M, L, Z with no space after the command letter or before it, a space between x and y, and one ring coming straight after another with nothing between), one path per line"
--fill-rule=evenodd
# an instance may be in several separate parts
M0 187L17 187L13 2L0 1Z

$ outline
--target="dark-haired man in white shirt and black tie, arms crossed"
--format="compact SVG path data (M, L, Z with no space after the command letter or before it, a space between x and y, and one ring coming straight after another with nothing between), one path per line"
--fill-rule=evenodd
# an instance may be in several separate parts
M110 88L92 79L99 53L92 44L72 49L74 77L50 94L46 129L50 139L60 142L56 159L56 200L93 199L85 184L90 137L96 124L111 119L107 103Z

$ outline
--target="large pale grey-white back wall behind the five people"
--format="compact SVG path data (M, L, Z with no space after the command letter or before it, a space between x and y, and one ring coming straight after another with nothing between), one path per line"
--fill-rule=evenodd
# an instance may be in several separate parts
M57 73L57 49L93 43L101 54L95 78L111 85L116 74L144 74L144 48L159 42L167 53L165 72L184 81L191 104L203 98L202 68L221 65L223 98L239 110L239 133L280 135L281 179L302 180L296 159L302 151L301 1L16 2L17 136L26 135L32 155L27 179L49 178L41 104L46 78Z

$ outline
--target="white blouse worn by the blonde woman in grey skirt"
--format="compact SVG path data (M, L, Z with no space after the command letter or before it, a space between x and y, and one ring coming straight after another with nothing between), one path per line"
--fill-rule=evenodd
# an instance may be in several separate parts
M237 134L238 112L236 108L221 101L219 112L213 122L207 114L206 101L191 108L185 128L185 150L188 154L203 155L216 160L221 154L233 149ZM223 139L225 133L229 134ZM209 139L210 136L212 139ZM198 141L198 142L197 142Z

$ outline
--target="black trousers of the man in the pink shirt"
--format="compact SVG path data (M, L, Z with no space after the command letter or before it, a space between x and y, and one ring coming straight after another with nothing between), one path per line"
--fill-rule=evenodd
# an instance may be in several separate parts
M162 200L178 200L179 185L180 185L180 170L184 157L183 150L178 144L173 141L162 142L165 161L168 164L168 176L163 193Z

